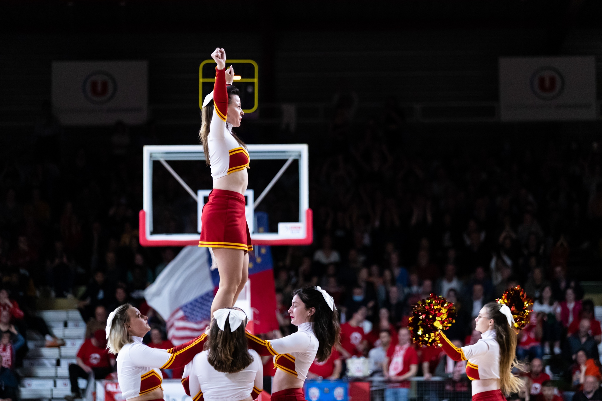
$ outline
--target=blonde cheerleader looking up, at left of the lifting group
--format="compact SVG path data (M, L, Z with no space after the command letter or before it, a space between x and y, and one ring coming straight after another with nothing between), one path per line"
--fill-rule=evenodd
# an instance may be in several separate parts
M142 337L151 330L148 318L130 304L121 305L107 319L107 347L117 355L117 380L128 401L163 401L160 369L183 367L202 352L206 335L170 349L151 348Z

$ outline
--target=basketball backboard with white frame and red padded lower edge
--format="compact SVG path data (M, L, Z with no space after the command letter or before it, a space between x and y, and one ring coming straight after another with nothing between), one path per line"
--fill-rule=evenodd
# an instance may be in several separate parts
M311 244L313 225L312 210L309 209L308 145L250 144L247 145L247 148L251 169L248 170L249 189L244 196L247 203L247 224L249 224L253 244ZM294 167L298 168L298 174L294 174ZM154 182L154 177L159 175L157 169L161 169L163 182L158 182L159 180ZM192 177L187 178L186 174L192 174ZM198 176L203 176L203 179L197 179ZM171 182L167 182L168 179ZM167 185L166 182L170 185ZM169 197L166 197L165 194L175 192L173 189L175 182L179 183L188 194L186 195L178 189L181 194L180 198L183 196L186 200L170 203L169 200L166 200ZM200 188L194 188L195 186ZM270 194L274 188L280 188L278 196L275 193ZM205 167L202 145L145 145L143 148L143 209L140 210L138 216L140 244L143 246L197 245L202 229L200 223L202 207L209 192L211 192L211 176L209 168ZM177 213L179 210L185 209L185 206L182 206L184 203L190 204L191 202L194 202L196 212L181 213L184 217L180 220L187 220L185 224L181 224L180 227L187 227L180 228L181 232L178 232L175 224L164 224L163 226L155 224L155 218L164 213L158 209L170 208L170 210L176 210L172 213ZM260 204L261 207L258 209ZM281 204L288 205L287 212L278 212ZM274 230L270 230L273 232L255 230L255 210L266 211L270 214L271 222L275 227ZM192 219L194 219L194 224L192 224ZM168 226L172 228L166 228Z

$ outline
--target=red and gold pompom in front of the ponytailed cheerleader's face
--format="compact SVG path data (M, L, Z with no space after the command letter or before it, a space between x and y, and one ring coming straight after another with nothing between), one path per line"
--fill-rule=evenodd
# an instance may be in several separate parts
M456 317L456 308L442 296L430 294L412 305L408 329L412 341L420 345L436 344L437 332L448 329Z

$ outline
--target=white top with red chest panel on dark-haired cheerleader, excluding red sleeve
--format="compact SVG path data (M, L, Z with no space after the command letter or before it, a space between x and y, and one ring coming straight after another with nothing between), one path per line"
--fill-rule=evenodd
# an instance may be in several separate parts
M319 345L311 323L301 323L297 326L297 332L266 342L270 352L278 354L274 355L276 367L305 381Z

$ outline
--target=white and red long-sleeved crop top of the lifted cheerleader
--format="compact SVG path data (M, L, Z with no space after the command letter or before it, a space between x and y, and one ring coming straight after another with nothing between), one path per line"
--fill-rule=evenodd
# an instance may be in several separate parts
M215 180L249 167L249 152L232 135L232 124L226 123L228 91L226 91L225 70L216 69L213 105L207 147L209 148L211 177Z

